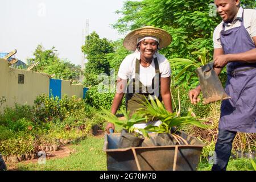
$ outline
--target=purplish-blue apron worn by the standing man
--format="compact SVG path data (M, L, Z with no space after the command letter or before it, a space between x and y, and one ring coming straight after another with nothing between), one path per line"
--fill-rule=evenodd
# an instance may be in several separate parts
M243 26L221 31L224 54L242 53L255 48L253 40ZM231 97L222 101L219 129L256 133L256 63L243 61L227 64L226 93Z

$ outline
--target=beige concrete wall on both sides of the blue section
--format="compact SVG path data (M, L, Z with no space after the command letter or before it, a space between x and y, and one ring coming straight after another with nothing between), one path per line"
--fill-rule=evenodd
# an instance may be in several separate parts
M24 75L24 84L18 83L18 75ZM40 94L49 95L49 75L9 67L6 60L0 59L0 97L5 96L3 107L12 107L15 103L33 105L34 100ZM76 95L83 98L83 86L71 85L70 81L61 80L61 96Z

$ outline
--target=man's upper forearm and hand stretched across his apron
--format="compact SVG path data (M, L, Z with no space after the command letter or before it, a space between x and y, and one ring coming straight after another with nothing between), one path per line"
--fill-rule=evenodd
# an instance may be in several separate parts
M256 36L253 37L253 41L256 47ZM250 51L242 53L234 53L227 55L216 56L214 59L214 66L217 68L222 68L226 64L232 61L244 61L246 63L255 63L256 62L256 48L251 49Z

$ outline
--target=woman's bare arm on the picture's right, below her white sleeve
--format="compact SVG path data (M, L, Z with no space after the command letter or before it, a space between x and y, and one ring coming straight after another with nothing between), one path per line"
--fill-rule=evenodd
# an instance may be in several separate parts
M163 99L164 106L166 106L166 110L172 113L172 101L171 101L171 77L163 78L161 77L161 96Z

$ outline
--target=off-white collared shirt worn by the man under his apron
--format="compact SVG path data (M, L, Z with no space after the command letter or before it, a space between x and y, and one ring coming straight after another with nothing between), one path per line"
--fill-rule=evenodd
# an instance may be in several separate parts
M240 9L237 12L236 18L234 18L232 23L225 23L224 21L222 21L215 28L215 30L213 32L213 47L214 47L214 49L222 48L221 42L220 42L220 32L222 31L223 26L225 26L225 31L230 30L235 27L240 27L241 20L242 20L242 14L243 14L243 26L245 26L245 28L251 38L256 36L256 10L242 9L242 7L240 7Z

